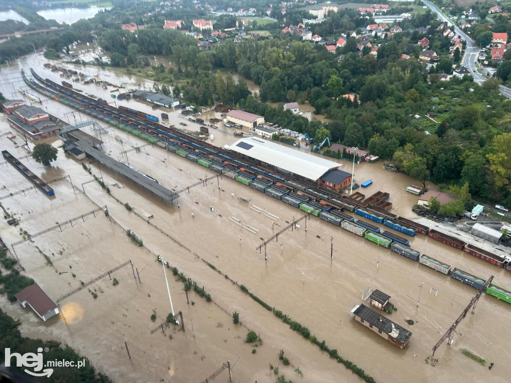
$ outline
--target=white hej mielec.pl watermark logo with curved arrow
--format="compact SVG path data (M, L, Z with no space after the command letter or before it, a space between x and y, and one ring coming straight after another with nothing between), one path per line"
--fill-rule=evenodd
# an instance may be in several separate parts
M55 360L55 361L48 361L44 363L43 361L43 354L42 354L42 347L39 347L37 349L37 353L34 352L27 352L23 355L21 355L18 352L11 353L10 348L5 349L5 366L11 367L11 362L14 358L15 366L16 367L26 367L25 372L27 374L30 374L32 376L46 376L50 377L53 374L53 368L48 367L84 367L85 366L85 359L82 361L66 361L66 360ZM44 348L44 352L48 352L50 349L48 347ZM31 370L29 370L31 369Z

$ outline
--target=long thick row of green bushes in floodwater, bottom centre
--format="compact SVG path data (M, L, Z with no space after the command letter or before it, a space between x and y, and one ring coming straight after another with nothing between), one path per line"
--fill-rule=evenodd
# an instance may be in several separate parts
M328 354L335 358L338 363L342 363L347 369L352 370L352 372L358 376L360 376L366 383L375 383L375 379L372 376L367 375L363 369L358 367L355 363L350 362L346 359L344 359L342 356L340 356L336 349L330 349L330 347L327 346L327 342L322 341L319 342L315 336L311 336L310 330L306 327L301 325L300 323L293 321L290 317L288 317L286 314L284 314L281 310L277 310L275 307L271 308L268 304L263 302L261 299L259 299L257 296L250 293L250 291L244 286L240 285L241 290L243 290L245 293L247 293L254 301L260 303L263 307L266 309L272 310L273 315L275 317L280 318L283 322L289 325L289 328L291 328L294 331L297 331L301 333L301 335L310 340L312 343L317 345L322 351L327 351ZM268 308L270 307L270 308Z

